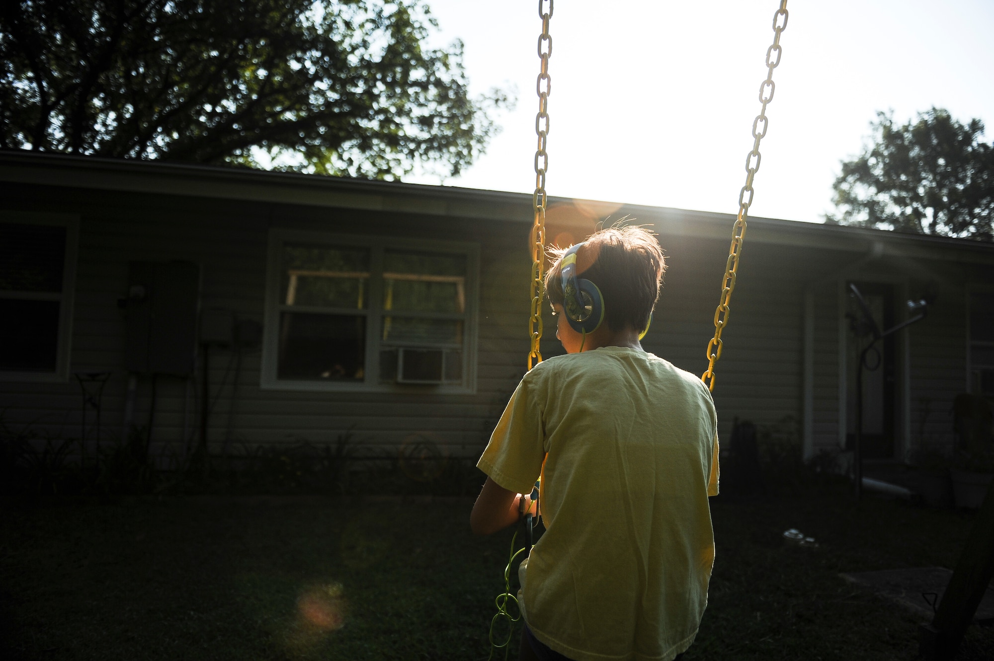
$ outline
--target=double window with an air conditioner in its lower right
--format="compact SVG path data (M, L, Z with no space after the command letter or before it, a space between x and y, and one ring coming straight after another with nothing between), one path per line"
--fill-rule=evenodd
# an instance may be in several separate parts
M262 386L471 392L476 247L273 230Z

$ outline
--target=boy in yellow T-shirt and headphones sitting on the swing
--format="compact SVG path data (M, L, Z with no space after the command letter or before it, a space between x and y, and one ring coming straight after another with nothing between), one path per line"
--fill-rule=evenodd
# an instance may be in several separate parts
M477 465L470 526L535 504L545 533L521 563L520 658L670 661L694 642L714 563L715 407L694 374L642 349L665 270L655 238L602 229L546 276L567 355L521 380Z

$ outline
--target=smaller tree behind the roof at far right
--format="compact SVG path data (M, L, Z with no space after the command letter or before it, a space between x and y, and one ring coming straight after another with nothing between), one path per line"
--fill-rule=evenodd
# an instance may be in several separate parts
M873 144L843 161L836 214L827 222L990 241L994 239L994 145L979 119L961 124L931 108L894 123L879 112Z

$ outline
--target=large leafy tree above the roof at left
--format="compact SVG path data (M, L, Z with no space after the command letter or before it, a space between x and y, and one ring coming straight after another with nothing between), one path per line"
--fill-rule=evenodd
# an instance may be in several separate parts
M398 179L498 127L420 0L20 0L0 9L0 147Z

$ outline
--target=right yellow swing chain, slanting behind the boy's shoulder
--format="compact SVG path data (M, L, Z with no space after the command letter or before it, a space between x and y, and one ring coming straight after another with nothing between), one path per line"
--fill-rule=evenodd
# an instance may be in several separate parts
M783 19L782 24L780 19ZM787 27L787 0L780 0L780 8L773 14L773 44L766 49L766 79L759 85L759 102L762 108L759 114L752 121L752 150L745 157L745 186L739 193L739 217L732 230L732 248L729 250L729 259L725 263L725 277L722 278L722 295L718 301L718 309L715 311L715 336L708 342L708 371L702 376L708 389L715 390L715 364L722 357L722 331L729 324L731 310L729 303L732 301L732 292L736 288L736 272L739 268L739 258L742 255L743 239L745 238L745 219L748 217L748 207L752 204L752 180L759 170L759 141L766 135L768 120L766 119L766 106L773 100L773 69L780 64L780 34ZM746 196L748 198L746 199Z

